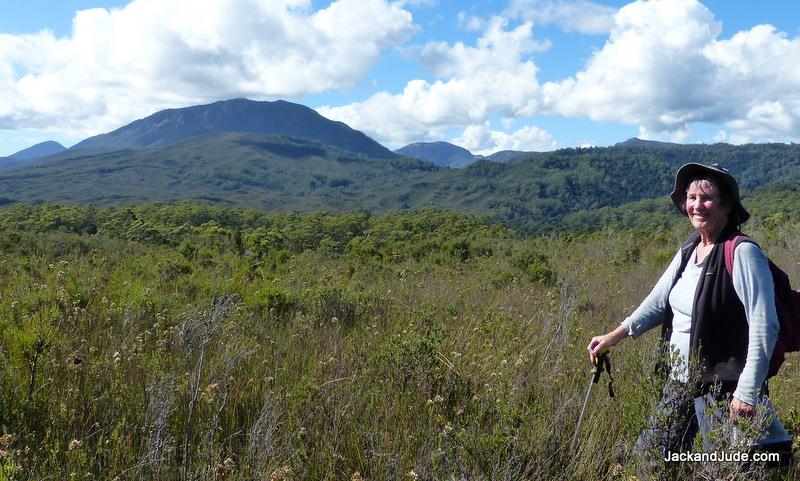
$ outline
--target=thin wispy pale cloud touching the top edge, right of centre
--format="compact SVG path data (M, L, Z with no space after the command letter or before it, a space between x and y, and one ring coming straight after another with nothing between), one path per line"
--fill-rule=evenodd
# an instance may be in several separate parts
M507 12L534 23L556 24L566 31L608 33L616 10L587 0L511 0Z

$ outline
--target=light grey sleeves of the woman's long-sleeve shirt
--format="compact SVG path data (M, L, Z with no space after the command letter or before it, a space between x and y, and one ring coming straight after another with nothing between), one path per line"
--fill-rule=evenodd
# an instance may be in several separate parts
M622 325L631 337L638 337L661 325L666 309L672 309L669 304L670 286L680 267L680 261L679 251L650 294L628 318L622 321ZM761 386L767 377L779 325L769 263L764 252L753 243L743 242L736 247L733 288L744 305L749 325L747 359L733 395L741 401L755 405L759 399ZM689 303L692 303L692 299L689 299ZM688 343L688 338L685 339ZM675 347L681 352L688 353L688 345Z

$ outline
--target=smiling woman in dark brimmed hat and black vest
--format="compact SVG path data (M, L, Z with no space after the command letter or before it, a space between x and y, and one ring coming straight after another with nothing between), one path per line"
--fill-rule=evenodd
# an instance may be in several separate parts
M670 370L672 379L687 381L689 360L699 363L696 374L706 389L694 393L694 409L692 403L681 408L689 412L684 413L683 425L673 435L678 438L661 446L670 451L688 449L698 429L707 432L702 394L708 386L716 384L723 394L731 394L731 415L755 413L755 406L763 401L779 329L772 274L761 249L742 242L734 253L732 276L725 267L725 240L737 235L739 225L750 217L733 176L717 164L686 164L675 176L671 198L688 216L695 234L633 314L613 331L593 337L587 346L595 362L621 340L660 325L662 341L669 341L679 353L676 364L682 366ZM759 444L785 447L787 442L791 449L791 438L773 416Z

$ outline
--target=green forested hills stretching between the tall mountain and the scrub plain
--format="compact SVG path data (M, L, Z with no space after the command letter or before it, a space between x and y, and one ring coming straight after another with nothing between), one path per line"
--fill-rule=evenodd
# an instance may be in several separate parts
M268 211L373 214L433 205L542 234L581 225L581 211L604 209L602 215L613 217L613 209L639 201L635 210L651 209L657 204L646 200L664 198L677 167L689 161L729 168L746 194L800 182L800 146L794 144L623 143L449 169L409 158L361 157L286 136L228 133L163 148L66 153L1 173L0 190L6 203L204 200Z

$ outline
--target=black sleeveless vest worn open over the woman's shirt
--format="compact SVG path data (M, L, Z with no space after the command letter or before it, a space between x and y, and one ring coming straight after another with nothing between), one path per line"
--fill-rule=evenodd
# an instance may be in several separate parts
M733 278L725 268L725 241L737 234L733 226L727 226L720 234L706 258L695 291L689 352L690 357L700 355L704 385L721 381L724 385L735 386L747 359L747 316L733 288ZM695 233L681 247L681 265L672 287L680 279L699 242L700 234ZM669 346L671 335L672 309L668 307L661 325L662 349Z

